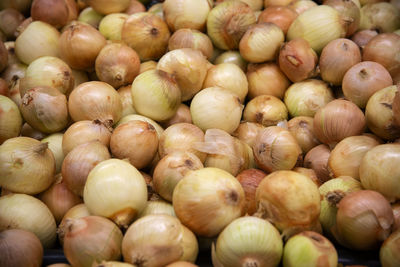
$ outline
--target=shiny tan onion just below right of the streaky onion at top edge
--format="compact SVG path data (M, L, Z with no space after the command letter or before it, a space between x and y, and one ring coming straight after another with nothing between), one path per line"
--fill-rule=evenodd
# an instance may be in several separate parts
M249 26L239 42L242 57L252 63L274 60L285 40L284 32L274 23Z

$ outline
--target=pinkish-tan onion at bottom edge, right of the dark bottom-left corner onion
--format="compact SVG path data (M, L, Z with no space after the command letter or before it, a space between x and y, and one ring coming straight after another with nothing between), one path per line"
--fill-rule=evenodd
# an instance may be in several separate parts
M122 232L104 217L68 219L60 231L64 233L64 255L72 266L92 266L121 258Z

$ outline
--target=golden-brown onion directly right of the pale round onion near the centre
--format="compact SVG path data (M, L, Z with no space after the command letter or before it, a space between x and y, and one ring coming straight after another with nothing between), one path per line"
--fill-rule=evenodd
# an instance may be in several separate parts
M243 111L243 119L263 126L274 126L288 119L285 104L272 95L260 95L250 100Z

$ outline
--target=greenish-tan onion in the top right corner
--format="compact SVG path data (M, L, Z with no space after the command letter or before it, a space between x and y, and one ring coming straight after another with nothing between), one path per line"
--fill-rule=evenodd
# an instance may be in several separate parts
M400 10L386 2L366 4L361 8L360 30L393 32L400 28Z

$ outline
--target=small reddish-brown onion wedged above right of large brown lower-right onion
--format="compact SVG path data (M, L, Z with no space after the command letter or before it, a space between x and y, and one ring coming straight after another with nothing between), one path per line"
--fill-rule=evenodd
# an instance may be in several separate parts
M330 179L328 160L330 149L327 145L318 145L310 149L304 157L304 167L313 169L321 183Z

